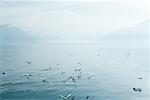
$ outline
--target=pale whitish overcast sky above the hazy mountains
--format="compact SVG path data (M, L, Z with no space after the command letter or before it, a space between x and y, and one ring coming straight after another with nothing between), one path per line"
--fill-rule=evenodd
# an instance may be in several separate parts
M37 36L105 36L148 19L148 1L17 1L0 1L0 24L17 26Z

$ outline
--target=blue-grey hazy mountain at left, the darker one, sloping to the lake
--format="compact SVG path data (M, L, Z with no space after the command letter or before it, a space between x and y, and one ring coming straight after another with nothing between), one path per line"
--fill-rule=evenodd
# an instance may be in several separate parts
M27 32L9 24L0 25L0 44L28 44L35 39Z

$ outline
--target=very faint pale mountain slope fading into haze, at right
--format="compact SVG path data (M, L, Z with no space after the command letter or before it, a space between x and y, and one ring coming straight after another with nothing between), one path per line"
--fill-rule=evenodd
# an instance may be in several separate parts
M147 48L149 35L148 21L137 24L134 27L120 28L110 33L104 39L99 39L104 47L134 47Z

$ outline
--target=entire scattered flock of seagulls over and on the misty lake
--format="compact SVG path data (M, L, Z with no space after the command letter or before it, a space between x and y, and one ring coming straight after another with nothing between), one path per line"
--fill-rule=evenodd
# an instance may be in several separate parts
M128 54L128 56L129 56L130 54ZM97 56L100 56L99 54L97 54ZM31 61L26 61L25 62L26 64L28 64L28 65L32 65L32 62ZM82 65L80 62L79 63L77 63L78 65ZM57 66L59 66L60 64L56 64ZM42 71L50 71L52 68L51 67L48 67L47 69L42 69ZM81 69L74 69L74 72L77 72L78 74L77 74L77 76L76 77L74 77L74 76L69 76L69 77L67 77L67 79L65 79L65 80L63 80L62 82L67 82L67 81L71 81L71 82L76 82L78 79L80 79L81 78L81 73L82 73L82 70ZM2 72L2 75L6 75L7 73L6 72ZM62 73L60 73L60 75L64 75L64 74L66 74L66 72L62 72ZM23 74L23 75L21 75L21 79L22 78L26 78L26 79L30 79L30 77L31 77L32 75L31 74ZM91 76L89 76L89 77L87 77L87 79L91 79L91 78L93 78L93 77L95 77L95 75L91 75ZM40 80L42 80L42 82L43 83L49 83L49 81L48 80L46 80L45 78L39 78ZM139 77L139 78L137 78L138 80L142 80L143 78L142 77ZM15 82L12 82L11 84L15 84ZM142 92L142 88L132 88L132 90L134 91L134 92ZM75 100L75 96L73 96L70 92L69 93L67 93L66 95L59 95L59 97L61 98L61 99L63 99L63 100ZM87 100L87 99L89 99L90 98L90 96L89 95L87 95L87 96L85 96L85 99Z

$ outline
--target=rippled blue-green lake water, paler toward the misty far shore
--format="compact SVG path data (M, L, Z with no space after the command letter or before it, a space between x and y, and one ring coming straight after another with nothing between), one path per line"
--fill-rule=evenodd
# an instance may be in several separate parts
M0 100L149 100L148 52L98 44L3 45ZM68 94L72 99L60 96Z

